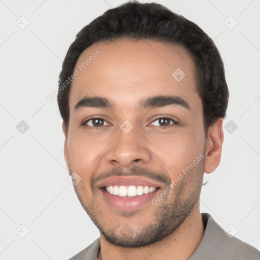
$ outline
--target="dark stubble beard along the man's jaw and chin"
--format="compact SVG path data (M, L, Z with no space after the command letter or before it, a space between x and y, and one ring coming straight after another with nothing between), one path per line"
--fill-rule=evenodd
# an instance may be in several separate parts
M104 213L103 215L99 215L93 210L97 208L94 205L99 203L96 202L94 196L92 196L91 207L87 207L83 198L87 199L90 192L86 191L82 192L85 194L80 194L77 186L74 186L74 189L82 207L110 244L128 248L143 247L161 241L174 234L183 221L189 216L194 205L200 198L204 165L205 159L202 159L156 206L153 206L157 207L156 212L150 219L147 219L146 222L151 221L145 226L140 226L138 230L133 230L131 226L127 224L122 225L122 228L116 231L115 229L110 229L109 226L102 221L102 218L105 217ZM133 171L135 169L134 167ZM71 165L70 173L73 173ZM156 173L153 174L155 175ZM171 180L169 181L170 182L161 189L161 192L167 188L169 189Z

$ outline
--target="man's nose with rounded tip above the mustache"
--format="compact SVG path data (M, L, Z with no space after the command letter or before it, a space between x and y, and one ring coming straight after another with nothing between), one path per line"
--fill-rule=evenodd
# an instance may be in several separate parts
M132 167L148 163L151 152L135 127L127 134L119 128L117 138L107 150L106 159L113 166Z

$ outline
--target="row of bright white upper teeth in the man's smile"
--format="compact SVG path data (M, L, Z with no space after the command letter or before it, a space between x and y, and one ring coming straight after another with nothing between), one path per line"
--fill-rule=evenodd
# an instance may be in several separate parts
M141 196L143 194L148 194L151 193L155 190L155 187L148 187L148 186L138 186L136 187L135 185L131 186L108 186L106 187L106 191L110 194L113 194L115 196L119 197L136 197L136 196Z

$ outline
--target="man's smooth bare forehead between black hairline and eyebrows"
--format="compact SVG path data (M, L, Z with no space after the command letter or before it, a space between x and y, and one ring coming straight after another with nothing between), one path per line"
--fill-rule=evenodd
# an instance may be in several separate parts
M129 108L159 94L185 97L188 103L194 99L200 102L192 61L183 46L170 43L128 39L95 43L77 60L70 110L84 96L103 96Z

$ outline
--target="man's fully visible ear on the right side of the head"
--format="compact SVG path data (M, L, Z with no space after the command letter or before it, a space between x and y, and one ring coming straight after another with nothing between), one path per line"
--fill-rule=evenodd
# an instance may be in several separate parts
M223 118L218 118L217 121L208 129L205 152L205 173L212 173L220 163L222 144L224 140L222 126Z

